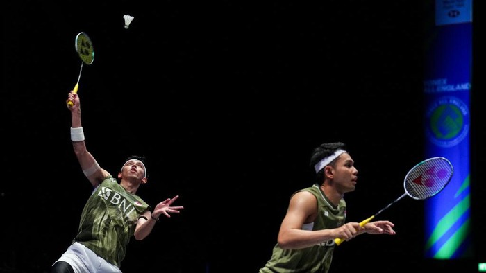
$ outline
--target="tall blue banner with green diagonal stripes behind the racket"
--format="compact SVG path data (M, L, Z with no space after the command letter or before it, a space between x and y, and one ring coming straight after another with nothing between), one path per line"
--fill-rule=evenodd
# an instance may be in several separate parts
M425 202L425 257L471 258L469 167L472 0L436 0L426 26L424 103L426 157L446 157L451 182Z

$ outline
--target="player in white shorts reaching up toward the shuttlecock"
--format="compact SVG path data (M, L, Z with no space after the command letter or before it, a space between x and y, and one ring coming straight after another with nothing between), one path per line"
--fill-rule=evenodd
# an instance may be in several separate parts
M117 178L99 166L85 144L81 127L81 107L78 94L69 92L71 140L74 154L94 190L87 200L78 234L72 245L51 267L51 273L121 272L126 247L131 237L143 240L160 215L179 213L183 206L171 206L178 195L158 203L153 209L137 196L137 190L148 181L145 157L126 159Z

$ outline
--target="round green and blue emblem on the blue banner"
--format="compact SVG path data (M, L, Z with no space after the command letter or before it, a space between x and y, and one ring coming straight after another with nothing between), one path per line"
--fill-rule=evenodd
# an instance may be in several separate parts
M453 96L437 98L426 114L426 137L440 147L458 145L469 134L469 109Z

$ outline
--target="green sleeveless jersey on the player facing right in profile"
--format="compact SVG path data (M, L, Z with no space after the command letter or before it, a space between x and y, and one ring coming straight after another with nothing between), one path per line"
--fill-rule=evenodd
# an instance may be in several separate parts
M344 199L340 200L337 207L333 206L317 184L300 191L308 191L315 195L318 207L315 222L305 224L303 229L334 229L344 224L346 220L346 202ZM326 273L333 261L334 247L334 240L328 240L304 249L282 249L277 243L270 260L267 261L265 267L260 269L260 273Z

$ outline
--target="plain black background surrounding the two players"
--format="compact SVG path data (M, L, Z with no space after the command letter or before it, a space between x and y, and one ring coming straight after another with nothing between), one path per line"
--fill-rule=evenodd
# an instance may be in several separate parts
M258 272L290 195L312 184L308 162L320 143L349 146L360 179L346 202L356 222L402 195L404 176L424 159L424 1L3 6L0 272L48 272L90 195L65 105L81 31L95 52L78 90L88 150L113 174L128 155L146 155L150 179L137 194L151 205L180 195L185 206L131 241L124 272ZM128 29L124 14L135 17ZM484 187L474 185L484 110L474 91L473 223L484 245ZM331 272L475 272L486 261L479 246L473 261L424 260L422 210L404 198L381 213L396 236L343 243Z

